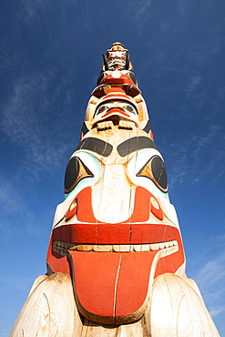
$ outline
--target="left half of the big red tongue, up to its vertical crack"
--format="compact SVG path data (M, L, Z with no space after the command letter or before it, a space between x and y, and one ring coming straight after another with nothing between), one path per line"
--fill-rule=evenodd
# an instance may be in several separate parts
M79 305L100 316L115 316L115 286L120 254L71 251Z

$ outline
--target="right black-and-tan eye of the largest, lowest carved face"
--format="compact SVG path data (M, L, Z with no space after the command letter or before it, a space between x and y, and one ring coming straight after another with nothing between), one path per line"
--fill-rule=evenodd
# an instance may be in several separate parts
M147 164L138 171L137 177L147 177L163 192L168 191L167 169L164 161L159 156L150 158Z

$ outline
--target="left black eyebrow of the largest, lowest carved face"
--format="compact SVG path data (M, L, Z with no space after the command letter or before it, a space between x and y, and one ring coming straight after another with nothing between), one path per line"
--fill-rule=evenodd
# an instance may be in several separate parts
M113 147L104 140L89 137L81 140L75 150L77 151L78 149L88 149L89 151L96 152L98 155L108 157Z

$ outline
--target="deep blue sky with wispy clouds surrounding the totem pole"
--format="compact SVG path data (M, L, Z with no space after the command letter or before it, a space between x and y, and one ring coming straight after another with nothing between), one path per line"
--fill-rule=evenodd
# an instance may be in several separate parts
M165 158L188 276L225 335L223 0L3 0L0 336L38 275L101 54L128 47Z

